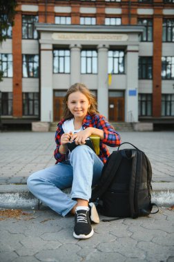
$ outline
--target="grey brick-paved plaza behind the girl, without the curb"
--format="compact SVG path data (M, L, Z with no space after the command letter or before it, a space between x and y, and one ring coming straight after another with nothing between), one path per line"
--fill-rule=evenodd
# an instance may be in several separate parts
M153 168L154 182L174 182L174 132L119 134L122 142L133 143L146 153ZM117 150L109 149L110 152ZM1 132L0 184L26 183L33 172L55 164L54 150L54 132Z

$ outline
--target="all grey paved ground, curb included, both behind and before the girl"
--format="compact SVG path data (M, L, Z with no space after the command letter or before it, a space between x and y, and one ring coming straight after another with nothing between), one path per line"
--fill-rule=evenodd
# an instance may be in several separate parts
M174 132L120 132L144 150L153 168L153 201L160 212L93 225L86 241L72 236L74 218L62 218L28 193L29 174L54 165L54 132L0 133L0 206L22 208L0 216L0 261L174 261ZM114 149L110 149L112 152ZM165 206L166 208L162 208ZM15 213L14 213L15 214ZM2 214L1 214L2 215ZM102 219L102 216L100 216Z

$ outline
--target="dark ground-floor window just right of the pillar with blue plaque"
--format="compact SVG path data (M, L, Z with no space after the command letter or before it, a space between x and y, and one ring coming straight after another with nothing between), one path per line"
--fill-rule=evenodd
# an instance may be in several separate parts
M152 94L139 94L138 115L139 117L149 117L152 115Z

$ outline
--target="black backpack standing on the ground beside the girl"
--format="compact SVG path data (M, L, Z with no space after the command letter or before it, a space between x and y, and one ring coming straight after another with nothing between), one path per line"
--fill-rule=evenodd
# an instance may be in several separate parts
M128 144L134 148L118 148L110 154L101 179L92 191L90 201L98 201L99 212L104 216L135 219L151 214L155 205L151 203L151 163L144 152ZM157 208L153 214L158 211Z

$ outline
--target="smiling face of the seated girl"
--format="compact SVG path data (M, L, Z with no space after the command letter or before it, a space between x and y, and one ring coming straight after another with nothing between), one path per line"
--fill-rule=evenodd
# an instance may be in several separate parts
M81 92L72 92L68 97L67 102L70 112L75 118L84 119L90 107L88 98Z

